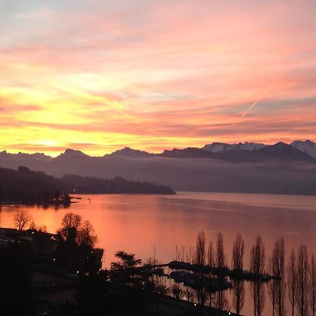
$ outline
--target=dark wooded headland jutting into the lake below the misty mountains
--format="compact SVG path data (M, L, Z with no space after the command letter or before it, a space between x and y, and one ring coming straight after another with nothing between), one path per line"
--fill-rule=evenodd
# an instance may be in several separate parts
M130 181L124 178L100 179L67 175L54 178L44 172L20 166L18 171L0 168L0 202L20 204L70 204L71 193L174 194L170 187Z

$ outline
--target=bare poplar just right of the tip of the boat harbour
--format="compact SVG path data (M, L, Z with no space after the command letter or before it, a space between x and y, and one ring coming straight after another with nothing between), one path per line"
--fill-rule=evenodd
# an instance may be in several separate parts
M270 282L270 298L272 302L273 315L275 310L277 315L285 314L284 298L285 298L285 280L284 280L284 256L285 247L284 239L278 238L275 242L272 258L270 261L270 273L274 276Z

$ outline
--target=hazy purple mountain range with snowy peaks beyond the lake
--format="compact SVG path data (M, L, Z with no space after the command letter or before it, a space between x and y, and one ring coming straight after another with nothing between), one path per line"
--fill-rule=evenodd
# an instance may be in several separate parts
M103 157L65 150L58 157L0 152L0 166L169 185L173 190L316 195L316 143L211 143L152 154L125 147Z

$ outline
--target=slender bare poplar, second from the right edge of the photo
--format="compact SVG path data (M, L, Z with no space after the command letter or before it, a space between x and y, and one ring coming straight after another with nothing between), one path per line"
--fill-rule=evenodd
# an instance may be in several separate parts
M297 261L297 311L299 316L308 315L308 288L309 288L309 263L308 263L308 252L306 246L301 244L298 249Z

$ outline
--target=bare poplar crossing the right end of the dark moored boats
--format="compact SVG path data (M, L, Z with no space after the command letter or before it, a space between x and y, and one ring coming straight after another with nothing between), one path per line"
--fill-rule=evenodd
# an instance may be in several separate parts
M261 284L260 276L263 275L265 268L265 246L262 237L256 237L256 244L252 246L250 252L250 269L257 280L251 283L251 294L254 300L254 316L260 316L265 305L265 292Z

